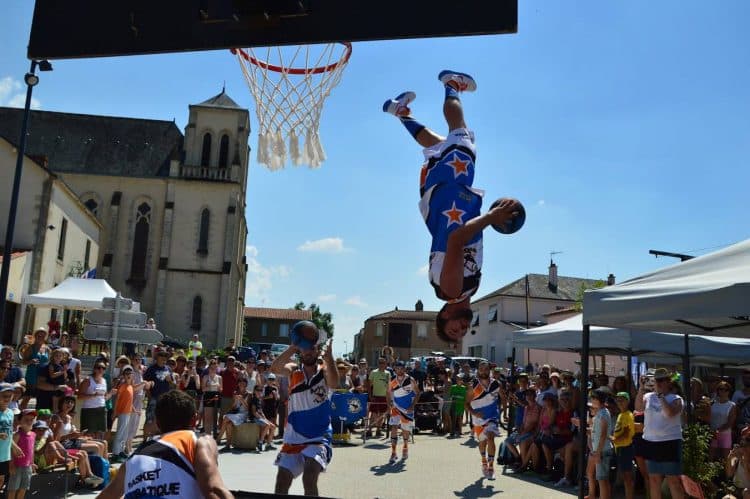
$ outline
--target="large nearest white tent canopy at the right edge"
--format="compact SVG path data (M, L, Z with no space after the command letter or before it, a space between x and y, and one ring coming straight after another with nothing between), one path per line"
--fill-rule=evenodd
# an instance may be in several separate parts
M583 321L712 336L750 336L750 239L621 284L586 291Z

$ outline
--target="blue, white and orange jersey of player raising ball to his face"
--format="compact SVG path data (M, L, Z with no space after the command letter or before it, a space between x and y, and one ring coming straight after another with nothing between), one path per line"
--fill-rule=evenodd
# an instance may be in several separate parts
M325 369L307 378L302 369L289 378L288 415L284 429L285 444L329 443L331 428L331 394Z

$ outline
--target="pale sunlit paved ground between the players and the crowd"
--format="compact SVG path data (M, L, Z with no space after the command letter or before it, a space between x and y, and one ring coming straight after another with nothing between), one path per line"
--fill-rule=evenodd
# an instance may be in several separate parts
M320 479L320 493L341 498L567 498L574 489L564 491L547 486L532 476L523 478L500 475L495 480L480 479L479 454L466 437L447 439L431 434L416 436L409 446L405 463L387 464L389 443L368 440L362 445L336 446L333 462ZM400 453L400 450L399 450ZM221 454L219 468L232 490L273 492L276 452L255 454L237 452ZM302 483L296 480L291 493L302 494ZM74 497L92 498L94 493Z

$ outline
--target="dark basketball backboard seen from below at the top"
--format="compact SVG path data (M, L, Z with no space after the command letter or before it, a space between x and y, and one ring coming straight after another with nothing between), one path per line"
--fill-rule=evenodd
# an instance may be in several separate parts
M515 33L518 0L36 0L31 59Z

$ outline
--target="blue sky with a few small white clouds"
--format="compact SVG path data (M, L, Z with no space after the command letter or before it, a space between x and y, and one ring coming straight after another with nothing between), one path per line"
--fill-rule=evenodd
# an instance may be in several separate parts
M0 105L23 103L32 9L4 2ZM319 303L337 352L371 315L418 298L439 308L417 210L421 151L380 108L414 90L415 116L444 132L444 68L478 82L463 102L485 206L515 196L527 209L518 234L486 233L478 296L546 272L551 251L561 275L622 281L674 263L649 249L697 255L750 237L749 18L742 0L521 0L515 35L354 44L326 102L322 168L250 167L247 304ZM53 64L34 91L40 109L183 128L187 106L226 81L254 110L228 51Z

